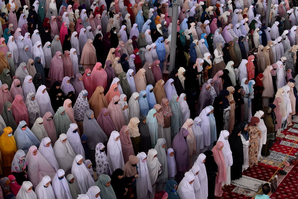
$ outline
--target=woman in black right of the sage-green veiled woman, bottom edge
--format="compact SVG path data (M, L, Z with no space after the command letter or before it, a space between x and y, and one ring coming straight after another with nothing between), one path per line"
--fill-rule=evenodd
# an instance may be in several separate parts
M125 198L124 194L126 193L125 180L123 177L124 171L122 169L116 169L111 175L111 185L114 189L115 195L117 198ZM119 176L122 178L119 179Z

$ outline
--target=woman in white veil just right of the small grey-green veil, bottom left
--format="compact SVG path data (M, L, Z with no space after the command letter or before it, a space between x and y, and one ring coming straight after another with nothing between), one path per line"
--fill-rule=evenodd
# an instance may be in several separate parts
M83 194L88 191L89 187L94 186L95 182L89 174L89 171L87 170L86 166L83 163L78 163L81 159L83 159L83 156L78 154L75 157L75 160L73 160L72 174L75 176L75 179L79 184L81 193Z

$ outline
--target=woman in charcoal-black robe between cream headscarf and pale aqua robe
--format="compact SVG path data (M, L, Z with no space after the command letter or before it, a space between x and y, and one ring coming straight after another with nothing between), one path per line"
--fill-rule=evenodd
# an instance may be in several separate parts
M148 153L148 150L151 149L151 139L150 139L150 133L149 128L146 124L146 116L141 115L140 116L140 123L138 124L139 133L140 135L140 152ZM145 123L144 123L145 121Z

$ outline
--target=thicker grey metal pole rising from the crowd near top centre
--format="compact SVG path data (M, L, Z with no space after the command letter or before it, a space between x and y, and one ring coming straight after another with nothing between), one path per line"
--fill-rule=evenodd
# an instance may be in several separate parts
M172 37L171 37L171 48L170 48L170 66L169 71L171 72L175 66L176 58L176 33L177 33L177 20L178 20L178 5L173 4L173 16L172 16Z

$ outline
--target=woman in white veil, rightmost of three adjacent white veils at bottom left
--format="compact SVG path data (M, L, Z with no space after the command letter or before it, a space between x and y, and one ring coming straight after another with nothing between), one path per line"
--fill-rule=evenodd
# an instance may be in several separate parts
M72 195L70 194L69 187L64 175L64 170L59 169L53 178L52 187L56 198L72 199ZM63 176L63 178L60 180L58 177L61 176Z

